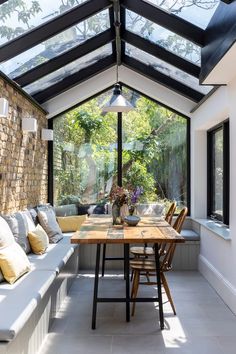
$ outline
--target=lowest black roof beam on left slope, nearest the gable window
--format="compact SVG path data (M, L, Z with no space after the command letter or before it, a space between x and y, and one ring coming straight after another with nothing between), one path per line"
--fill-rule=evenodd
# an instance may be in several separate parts
M86 81L89 78L99 74L100 72L110 68L115 64L115 62L116 58L114 55L109 55L106 58L98 60L95 64L90 65L73 75L67 76L64 80L58 82L57 84L36 93L33 95L33 98L40 103L46 102L49 99L61 94L62 92L69 90L70 88L82 83L83 81Z

